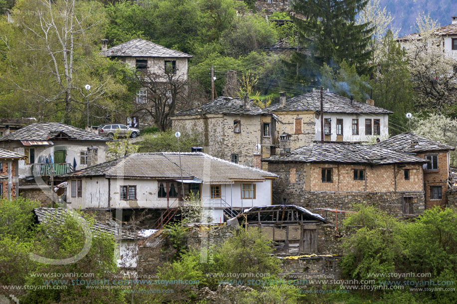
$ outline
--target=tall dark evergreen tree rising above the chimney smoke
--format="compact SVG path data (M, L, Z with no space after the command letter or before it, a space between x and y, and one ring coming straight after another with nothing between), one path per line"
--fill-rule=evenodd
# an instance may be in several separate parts
M373 30L368 23L355 23L357 13L366 4L367 0L294 1L293 19L300 44L308 50L293 56L299 70L311 69L307 76L313 77L324 63L334 67L335 63L345 60L349 65L356 66L358 74L367 74L372 52L368 44Z

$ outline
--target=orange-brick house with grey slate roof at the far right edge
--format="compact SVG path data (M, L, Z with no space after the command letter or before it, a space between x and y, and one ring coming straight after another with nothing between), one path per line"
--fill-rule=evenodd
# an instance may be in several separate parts
M457 24L456 24L457 25ZM407 132L386 139L375 146L405 152L424 158L430 162L424 164L425 208L446 206L447 190L451 177L449 152L455 147L445 145L412 132Z

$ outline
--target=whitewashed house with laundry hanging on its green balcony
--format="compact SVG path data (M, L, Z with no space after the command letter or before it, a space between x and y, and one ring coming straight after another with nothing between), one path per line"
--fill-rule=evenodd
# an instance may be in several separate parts
M17 166L19 194L44 203L50 202L51 176L104 162L107 141L60 122L37 122L1 137L0 148L25 155Z

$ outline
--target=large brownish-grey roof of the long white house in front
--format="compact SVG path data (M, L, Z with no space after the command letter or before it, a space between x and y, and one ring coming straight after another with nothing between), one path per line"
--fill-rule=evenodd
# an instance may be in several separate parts
M256 168L235 164L201 152L181 153L182 178L204 183L233 183L234 180L265 180L277 175ZM61 175L62 178L90 176L181 179L177 152L135 153Z

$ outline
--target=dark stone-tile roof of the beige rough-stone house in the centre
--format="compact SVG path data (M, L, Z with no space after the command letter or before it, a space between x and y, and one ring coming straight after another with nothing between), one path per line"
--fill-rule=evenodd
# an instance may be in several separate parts
M244 114L244 115L260 115L268 114L250 101L249 109L244 108L243 100L240 98L219 97L213 101L206 102L201 105L200 109L191 108L180 111L172 116L186 115L203 115L203 114Z

